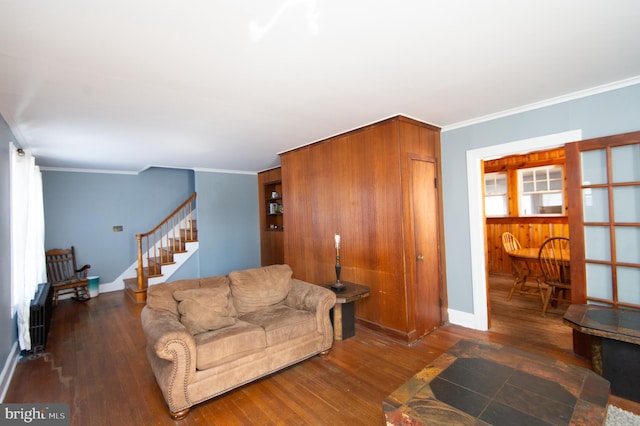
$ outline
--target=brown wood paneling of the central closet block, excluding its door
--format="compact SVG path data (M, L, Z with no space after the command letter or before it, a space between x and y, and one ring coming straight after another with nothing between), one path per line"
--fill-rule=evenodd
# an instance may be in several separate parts
M438 155L439 135L438 128L395 117L281 155L285 262L294 277L335 281L339 233L342 280L371 288L356 303L356 316L390 334L415 328L406 266L410 215L403 211L410 185L403 176L409 154Z

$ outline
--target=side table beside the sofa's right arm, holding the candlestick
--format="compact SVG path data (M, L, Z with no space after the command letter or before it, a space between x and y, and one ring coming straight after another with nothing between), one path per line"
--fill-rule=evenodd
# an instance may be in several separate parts
M345 285L345 289L336 292L336 304L331 312L331 321L333 322L333 338L335 340L344 340L353 337L356 334L355 327L355 301L369 296L370 290L366 285L341 281ZM331 286L335 282L322 284L323 287L335 291Z

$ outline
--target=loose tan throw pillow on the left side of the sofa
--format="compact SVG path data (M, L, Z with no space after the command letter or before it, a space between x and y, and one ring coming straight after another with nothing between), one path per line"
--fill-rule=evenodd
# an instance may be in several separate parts
M229 295L227 285L173 292L173 297L180 302L180 322L194 335L236 322L236 309Z

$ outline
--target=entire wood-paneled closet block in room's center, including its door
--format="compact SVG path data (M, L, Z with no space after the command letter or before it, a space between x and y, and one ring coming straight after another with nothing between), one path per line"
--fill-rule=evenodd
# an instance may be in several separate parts
M440 129L398 116L281 155L294 277L371 288L356 317L413 341L446 321Z

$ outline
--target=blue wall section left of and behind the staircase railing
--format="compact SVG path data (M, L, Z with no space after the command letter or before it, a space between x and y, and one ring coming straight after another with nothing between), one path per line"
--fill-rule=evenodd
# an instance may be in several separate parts
M37 160L37 159L36 159ZM74 246L90 275L112 282L137 259L136 234L149 231L195 190L190 170L140 174L43 171L45 248ZM122 225L123 232L113 232Z

